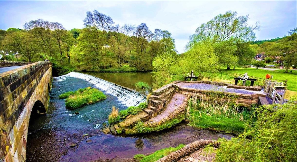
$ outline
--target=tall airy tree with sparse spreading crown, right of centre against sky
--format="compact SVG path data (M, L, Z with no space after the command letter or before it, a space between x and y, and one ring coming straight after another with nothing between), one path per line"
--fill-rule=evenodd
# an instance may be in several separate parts
M255 39L254 31L260 27L258 22L255 23L255 26L248 26L248 16L249 15L237 17L237 12L232 11L227 11L225 14L215 16L211 21L201 24L200 27L196 29L195 34L190 36L187 49L191 48L191 46L195 45L197 42L206 42L210 44L218 43L213 46L215 49L214 52L219 54L219 63L227 65L227 69L230 69L230 64L234 65L237 63L236 61L242 60L242 58L238 59L238 57L245 56L245 54L242 54L241 52L238 56L239 53L236 53L236 51L238 52L242 50L236 50L231 47L232 52L230 52L230 49L225 48L223 45L229 44L233 46L233 44L236 44L237 42L250 42ZM230 61L226 61L226 59L228 59L228 57L226 57L227 53L230 57ZM231 56L231 54L233 56ZM237 59L235 59L235 57L237 57Z

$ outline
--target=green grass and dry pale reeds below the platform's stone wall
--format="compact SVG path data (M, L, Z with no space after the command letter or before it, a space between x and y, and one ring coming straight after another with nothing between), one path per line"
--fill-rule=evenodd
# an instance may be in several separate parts
M240 133L251 118L248 110L240 110L233 99L203 101L194 94L189 100L186 120L190 125L203 129Z

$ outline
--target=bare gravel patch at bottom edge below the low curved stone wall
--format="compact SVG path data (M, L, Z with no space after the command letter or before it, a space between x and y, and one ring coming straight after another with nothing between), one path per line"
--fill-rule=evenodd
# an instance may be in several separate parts
M216 153L215 152L206 153L205 151L203 151L203 148L201 148L201 149L193 152L190 155L184 156L178 162L191 162L189 160L183 161L184 159L187 159L187 158L194 158L194 159L196 159L198 161L209 161L209 162L212 162L212 161L214 161L214 158L215 157L216 157Z

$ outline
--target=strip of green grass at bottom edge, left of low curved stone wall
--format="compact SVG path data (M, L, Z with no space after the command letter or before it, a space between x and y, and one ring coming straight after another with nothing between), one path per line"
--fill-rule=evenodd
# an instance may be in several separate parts
M159 160L160 158L170 154L171 152L174 152L176 150L179 150L181 148L183 148L185 145L184 144L180 144L177 147L168 147L165 149L160 149L150 155L143 155L143 154L137 154L134 156L135 159L140 160L140 162L154 162Z

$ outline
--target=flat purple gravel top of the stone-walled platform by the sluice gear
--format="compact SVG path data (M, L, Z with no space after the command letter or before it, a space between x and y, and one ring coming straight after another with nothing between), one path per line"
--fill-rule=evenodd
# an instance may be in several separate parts
M203 89L203 90L213 90L213 91L222 91L222 92L233 92L233 93L240 93L240 94L259 94L263 93L263 91L249 91L244 89L236 89L236 88L227 88L221 85L213 85L213 84L206 84L206 83L184 83L179 82L177 85L183 88L195 88L195 89Z

